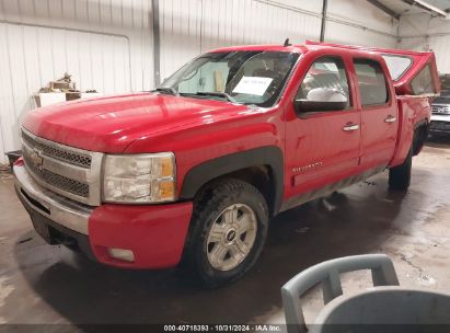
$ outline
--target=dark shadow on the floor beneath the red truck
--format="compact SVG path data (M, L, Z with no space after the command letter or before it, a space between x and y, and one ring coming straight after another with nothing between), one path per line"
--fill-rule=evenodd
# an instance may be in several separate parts
M409 199L407 205L416 203ZM270 223L256 267L216 290L198 288L176 269L116 269L42 243L30 249L18 244L14 255L34 291L74 325L247 323L279 309L280 287L300 271L338 256L379 252L394 229L407 228L409 220L397 218L404 206L404 194L389 192L382 174L282 213ZM30 236L37 238L34 231L21 238ZM36 265L39 251L47 261ZM55 257L49 260L49 252Z

